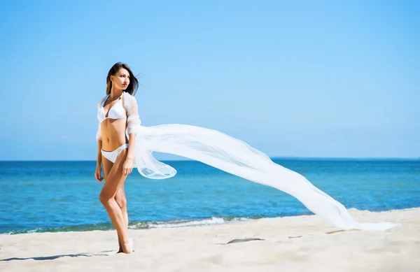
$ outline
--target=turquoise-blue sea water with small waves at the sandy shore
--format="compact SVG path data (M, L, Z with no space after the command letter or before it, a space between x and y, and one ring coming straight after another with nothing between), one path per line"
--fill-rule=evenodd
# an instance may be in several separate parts
M420 207L420 160L273 159L297 171L346 208ZM219 224L311 214L277 189L193 161L167 162L167 180L127 178L130 228ZM0 233L112 229L99 202L95 162L0 162Z

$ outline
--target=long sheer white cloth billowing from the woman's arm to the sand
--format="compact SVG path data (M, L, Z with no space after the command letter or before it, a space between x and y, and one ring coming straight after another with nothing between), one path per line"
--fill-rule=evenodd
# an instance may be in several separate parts
M304 176L272 162L263 152L220 131L186 124L142 126L136 99L127 93L124 99L128 116L126 133L137 135L135 167L146 178L164 179L176 175L172 166L159 162L152 155L152 152L163 152L209 164L286 192L339 229L385 230L398 225L354 221L342 203L316 188ZM100 136L100 131L97 138L98 134Z

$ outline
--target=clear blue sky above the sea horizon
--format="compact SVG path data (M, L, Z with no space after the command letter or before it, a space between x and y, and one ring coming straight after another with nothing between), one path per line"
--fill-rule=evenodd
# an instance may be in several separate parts
M419 8L5 1L0 160L94 160L116 62L143 73L146 126L218 129L270 157L420 157Z

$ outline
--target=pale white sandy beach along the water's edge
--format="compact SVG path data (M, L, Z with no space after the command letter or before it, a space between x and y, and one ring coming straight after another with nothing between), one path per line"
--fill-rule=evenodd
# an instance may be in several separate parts
M420 271L420 208L350 213L402 225L338 231L310 215L130 230L132 255L116 254L116 231L0 235L0 271ZM244 238L264 240L228 244Z

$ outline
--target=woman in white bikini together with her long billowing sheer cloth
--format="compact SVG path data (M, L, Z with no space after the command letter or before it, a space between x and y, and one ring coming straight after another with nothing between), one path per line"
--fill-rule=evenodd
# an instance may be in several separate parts
M115 64L106 83L107 96L98 103L98 164L95 177L102 180L102 162L105 185L99 199L117 229L120 252L130 253L132 250L127 236L123 185L132 168L137 167L142 176L153 179L171 178L176 174L171 166L156 160L152 156L153 151L195 159L241 178L280 189L295 196L313 213L340 229L384 230L398 225L355 222L341 203L299 173L275 164L264 153L220 131L186 124L141 126L134 98L138 83L126 64Z

